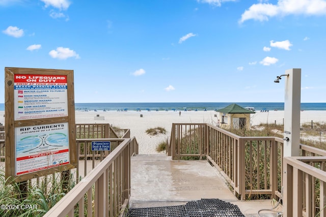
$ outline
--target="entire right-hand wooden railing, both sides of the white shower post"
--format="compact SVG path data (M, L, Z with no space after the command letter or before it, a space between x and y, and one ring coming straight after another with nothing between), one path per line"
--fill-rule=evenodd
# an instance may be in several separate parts
M239 137L205 123L173 123L167 153L172 159L206 158L240 199L279 199L284 186L283 216L326 216L326 151L298 145L304 157L283 158L278 137Z

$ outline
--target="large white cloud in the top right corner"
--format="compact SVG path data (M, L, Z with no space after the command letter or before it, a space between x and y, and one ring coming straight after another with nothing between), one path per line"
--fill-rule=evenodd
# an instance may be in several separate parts
M287 15L325 15L326 0L278 0L276 5L262 3L252 5L242 15L239 23L246 20L267 21L270 17Z

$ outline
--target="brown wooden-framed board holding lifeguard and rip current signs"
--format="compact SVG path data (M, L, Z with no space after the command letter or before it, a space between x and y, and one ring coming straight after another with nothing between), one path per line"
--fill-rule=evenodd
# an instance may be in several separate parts
M77 166L73 70L6 67L5 117L7 182Z

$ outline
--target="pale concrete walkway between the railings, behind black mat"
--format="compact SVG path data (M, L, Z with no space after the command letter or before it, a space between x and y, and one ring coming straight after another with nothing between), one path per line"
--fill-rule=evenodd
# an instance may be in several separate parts
M207 161L172 161L165 154L131 158L130 208L182 205L202 198L235 204L246 216L258 216L258 210L272 208L270 200L239 201ZM260 216L277 215L262 211Z

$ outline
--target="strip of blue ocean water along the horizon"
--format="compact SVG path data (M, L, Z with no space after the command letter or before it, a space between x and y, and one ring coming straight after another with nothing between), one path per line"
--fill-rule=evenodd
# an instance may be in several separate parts
M75 110L81 111L117 111L117 110L216 110L225 108L230 103L75 103ZM284 110L284 103L236 103L241 107L254 107L259 110ZM5 104L0 103L0 111L5 110ZM326 103L301 103L301 110L326 110Z

